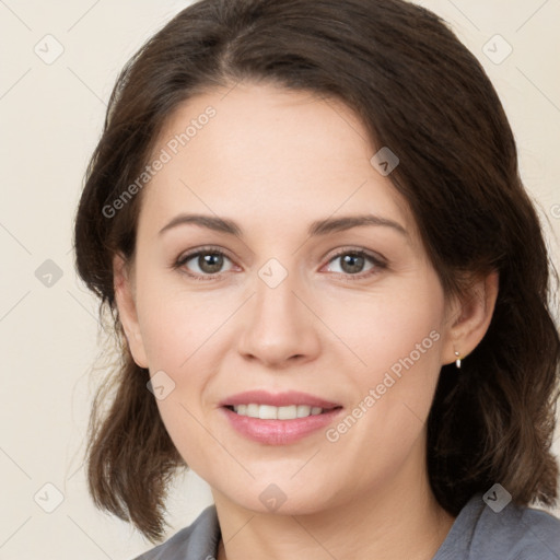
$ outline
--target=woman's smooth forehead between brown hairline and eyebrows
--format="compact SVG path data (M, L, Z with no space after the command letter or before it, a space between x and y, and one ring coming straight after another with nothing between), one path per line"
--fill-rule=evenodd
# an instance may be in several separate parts
M151 160L165 164L144 189L142 212L234 213L293 226L371 211L408 224L405 200L370 162L376 150L338 101L272 85L211 91L165 122Z

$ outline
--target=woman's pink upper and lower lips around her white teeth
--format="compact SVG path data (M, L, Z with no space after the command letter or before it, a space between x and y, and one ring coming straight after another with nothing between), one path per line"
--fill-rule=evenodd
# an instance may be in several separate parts
M226 408L233 405L249 404L270 405L275 407L307 405L310 407L320 407L324 412L305 418L294 418L292 420L262 420L260 418L241 416L230 408ZM285 445L301 440L327 427L340 416L342 411L342 407L336 402L298 392L272 395L262 390L250 390L224 399L221 402L221 407L220 410L225 415L234 430L252 441L268 445Z

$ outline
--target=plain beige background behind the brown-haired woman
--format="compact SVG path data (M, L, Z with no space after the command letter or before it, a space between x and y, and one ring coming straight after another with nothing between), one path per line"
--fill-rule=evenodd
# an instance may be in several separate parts
M100 347L96 302L77 280L71 232L85 164L118 71L187 3L0 1L0 558L5 560L127 560L150 548L129 526L97 512L86 493L81 458L98 375L90 366ZM518 141L522 175L555 232L547 226L558 264L560 3L421 3L453 25L495 84ZM47 34L56 39L43 39ZM501 63L482 50L491 39L494 59L505 52L506 44L492 39L495 34L513 48ZM63 52L46 63L57 48ZM47 259L62 275L50 288L35 276ZM44 509L57 505L58 493L46 483L62 499L51 513ZM211 503L196 475L177 487L170 500L170 534Z

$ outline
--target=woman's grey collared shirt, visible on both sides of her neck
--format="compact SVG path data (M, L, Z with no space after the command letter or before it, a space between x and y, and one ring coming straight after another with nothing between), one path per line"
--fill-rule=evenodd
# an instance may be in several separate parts
M560 520L510 502L494 513L475 494L460 510L432 560L560 560ZM135 560L214 560L220 541L215 505Z

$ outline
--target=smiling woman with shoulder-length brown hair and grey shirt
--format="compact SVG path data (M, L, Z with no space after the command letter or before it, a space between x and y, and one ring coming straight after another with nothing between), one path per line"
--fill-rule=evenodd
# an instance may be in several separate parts
M141 559L559 558L547 249L431 12L180 12L115 86L75 249L121 341L95 503L155 542L176 469L214 500Z

